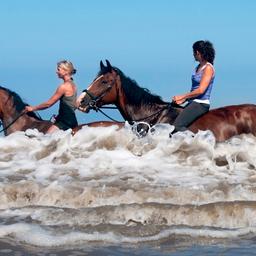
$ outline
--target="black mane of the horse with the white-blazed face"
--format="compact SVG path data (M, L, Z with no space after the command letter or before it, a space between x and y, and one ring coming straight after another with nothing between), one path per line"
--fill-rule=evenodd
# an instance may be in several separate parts
M120 76L125 96L129 100L129 102L131 102L135 106L140 106L141 104L168 104L167 102L163 101L160 96L152 94L147 88L140 87L135 80L127 77L117 67L112 68ZM102 75L101 71L98 73L98 76L100 75Z

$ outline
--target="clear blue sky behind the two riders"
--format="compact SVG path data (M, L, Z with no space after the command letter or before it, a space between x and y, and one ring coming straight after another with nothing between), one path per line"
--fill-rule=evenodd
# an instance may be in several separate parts
M256 103L255 27L254 0L2 0L0 84L36 105L60 84L59 60L75 65L80 93L109 59L168 101L190 90L192 44L208 39L216 49L212 107ZM57 109L40 114L48 119Z

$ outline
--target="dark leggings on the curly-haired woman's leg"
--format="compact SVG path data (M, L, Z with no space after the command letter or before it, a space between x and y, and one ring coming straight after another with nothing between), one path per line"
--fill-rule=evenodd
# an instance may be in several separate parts
M208 112L209 108L209 104L198 103L195 101L189 103L175 119L173 123L175 129L171 134L187 130L187 127L198 117Z

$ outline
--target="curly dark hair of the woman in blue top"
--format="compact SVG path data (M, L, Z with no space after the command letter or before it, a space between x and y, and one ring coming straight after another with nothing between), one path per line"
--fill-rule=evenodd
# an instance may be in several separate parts
M213 64L214 58L215 58L215 49L213 47L213 44L210 41L200 40L195 42L193 44L193 51L200 52L200 54L206 61Z

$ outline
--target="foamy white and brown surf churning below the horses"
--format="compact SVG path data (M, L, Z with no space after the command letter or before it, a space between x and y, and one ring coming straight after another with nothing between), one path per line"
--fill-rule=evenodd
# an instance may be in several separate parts
M169 125L0 137L0 239L35 246L256 234L256 138Z

